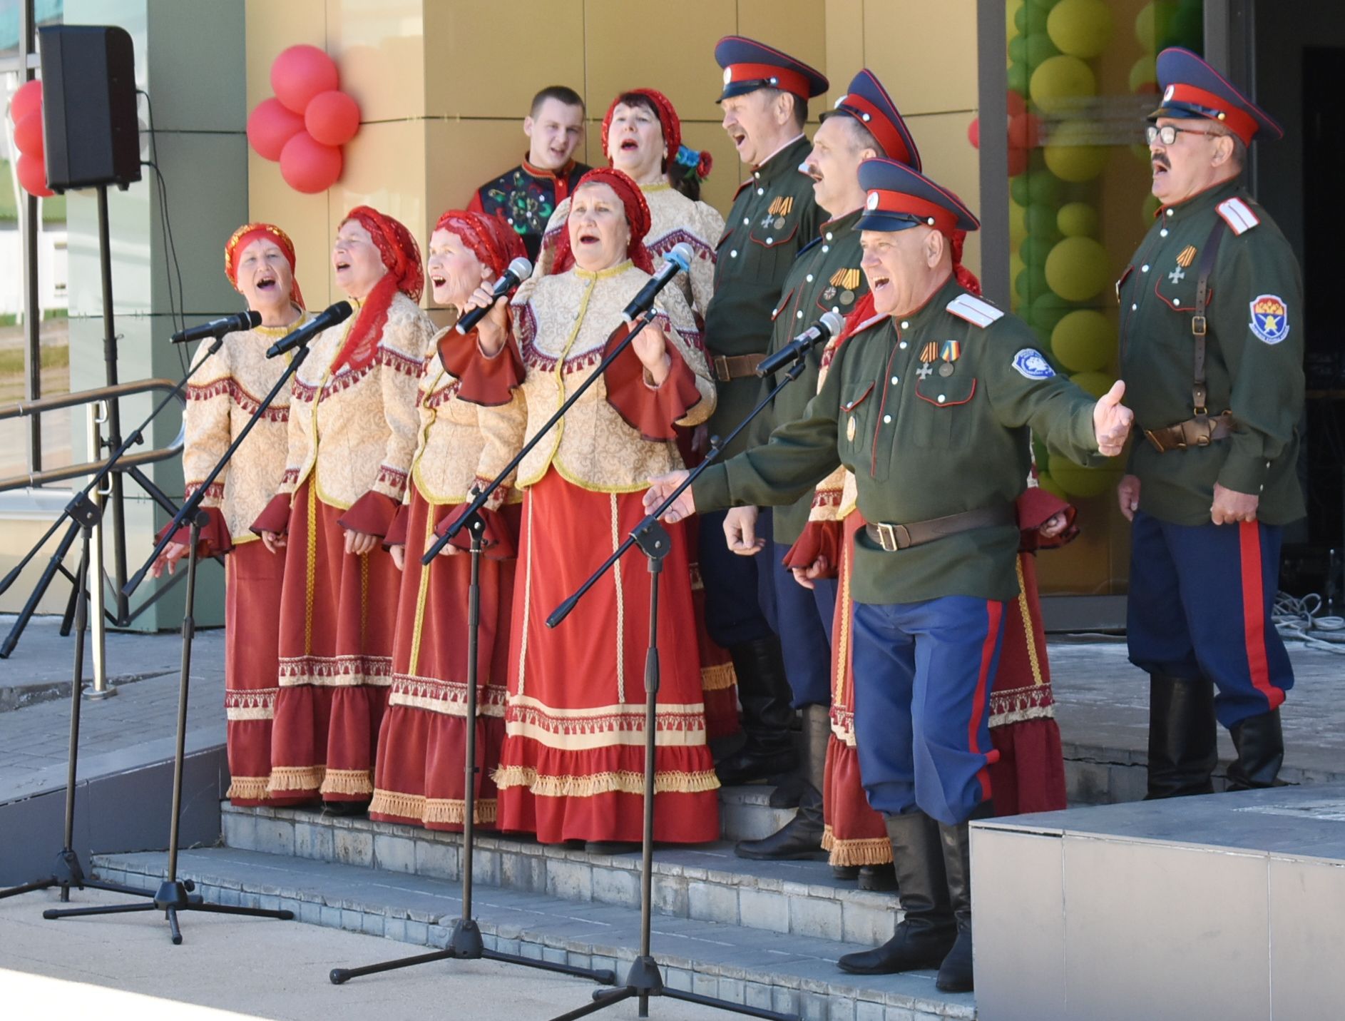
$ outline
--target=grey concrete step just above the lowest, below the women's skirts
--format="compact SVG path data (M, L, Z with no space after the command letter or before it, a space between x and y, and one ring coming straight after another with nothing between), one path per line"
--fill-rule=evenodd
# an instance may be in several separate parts
M230 849L447 881L460 876L460 834L227 803L222 821ZM473 877L521 893L636 908L640 856L589 854L487 831L476 837ZM866 946L890 939L900 919L893 895L837 880L823 861L748 861L724 842L655 847L654 909L690 921Z

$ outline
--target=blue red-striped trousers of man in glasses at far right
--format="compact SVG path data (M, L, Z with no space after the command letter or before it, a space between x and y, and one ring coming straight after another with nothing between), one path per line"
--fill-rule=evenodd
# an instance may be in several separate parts
M1278 709L1294 686L1271 623L1283 530L1262 522L1131 526L1130 662L1150 674L1215 682L1224 726Z

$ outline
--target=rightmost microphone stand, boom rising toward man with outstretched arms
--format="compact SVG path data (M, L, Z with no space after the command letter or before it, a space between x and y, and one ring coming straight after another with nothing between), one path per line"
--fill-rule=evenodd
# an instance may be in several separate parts
M588 1014L594 1014L599 1010L620 1004L631 997L639 998L639 1016L650 1016L650 997L670 997L672 999L682 999L689 1004L701 1004L702 1006L716 1008L718 1010L728 1010L734 1014L746 1014L748 1017L764 1017L771 1018L771 1021L799 1021L798 1014L783 1014L775 1010L767 1010L763 1008L748 1006L746 1004L732 1004L728 999L718 999L716 997L706 997L698 993L685 993L679 989L668 989L663 985L663 977L659 973L659 963L650 952L650 924L652 913L652 896L654 896L654 756L656 751L655 745L655 702L659 693L659 574L663 573L663 558L667 556L671 547L671 537L667 530L659 523L659 517L672 506L678 496L691 486L699 476L701 472L706 469L712 463L714 463L726 444L733 443L742 429L757 417L775 398L776 395L791 382L803 374L803 369L807 365L804 359L804 352L799 351L795 361L784 370L784 378L776 383L775 389L771 390L765 397L757 401L756 408L738 422L733 432L729 433L728 440L722 441L720 437L710 439L710 451L706 453L705 460L702 460L695 468L691 469L690 475L682 480L682 483L668 494L658 507L644 515L644 519L636 525L631 534L617 546L612 556L603 561L601 566L589 576L589 578L576 589L576 592L561 603L560 607L553 611L553 613L546 619L547 627L557 627L574 605L584 597L599 578L601 578L616 561L621 558L631 546L639 546L640 552L644 553L646 561L650 569L650 644L644 655L644 834L640 843L640 952L631 963L631 970L625 974L625 983L609 990L597 990L593 993L593 1002L570 1010L566 1014L560 1014L553 1018L553 1021L573 1021L578 1017L586 1017Z

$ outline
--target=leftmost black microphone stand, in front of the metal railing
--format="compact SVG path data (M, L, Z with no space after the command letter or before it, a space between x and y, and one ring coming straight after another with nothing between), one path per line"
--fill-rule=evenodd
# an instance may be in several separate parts
M217 336L214 339L214 343L210 346L210 352L207 358L219 351L223 342L225 342L223 336ZM93 588L93 585L100 585L100 587L102 585L102 565L91 562L90 549L93 545L93 530L102 519L104 508L98 503L91 500L89 495L94 490L101 487L104 479L106 479L112 472L120 471L120 468L117 467L117 461L126 453L126 451L129 451L136 444L144 441L144 432L147 428L149 428L149 424L159 416L159 413L168 405L169 401L172 401L174 398L179 398L182 395L182 391L187 387L187 383L191 379L191 377L195 375L196 370L204 362L206 358L196 362L196 365L187 371L187 374L178 382L178 385L172 390L169 390L157 405L155 405L155 409L149 413L149 417L147 417L139 426L136 426L136 429L129 436L126 436L121 441L121 445L117 447L116 452L110 457L108 457L106 464L104 464L102 468L100 468L93 475L93 478L89 479L89 483L79 492L71 496L70 503L67 503L65 510L61 511L61 517L56 518L52 526L47 530L47 534L43 535L42 539L38 541L38 545L34 546L32 550L28 553L28 556L19 565L16 565L12 572L9 572L9 576L5 577L3 582L0 582L0 592L4 592L4 589L12 584L13 578L17 577L17 573L23 570L24 564L36 554L38 549L40 549L42 545L51 535L56 533L56 529L61 527L61 522L65 521L66 518L70 519L71 527L66 533L66 535L61 539L61 543L51 558L51 564L43 573L42 582L39 584L38 591L34 592L34 596L30 600L30 605L35 607L38 597L40 597L42 592L46 591L47 584L50 584L51 581L51 577L61 568L61 561L65 560L66 552L70 549L71 543L74 542L75 533L78 531L81 535L81 554L79 554L79 568L74 577L74 593L73 593L75 600L74 605L75 662L74 662L74 671L71 673L71 685L70 685L70 739L69 739L69 749L66 752L66 819L65 819L65 838L63 838L65 842L62 843L61 850L56 853L56 862L51 870L51 874L48 874L44 878L36 880L35 882L26 882L19 886L11 886L9 889L0 891L0 900L5 897L17 896L19 893L30 893L34 891L50 889L51 886L61 888L62 903L70 901L71 886L75 886L78 889L89 886L91 889L105 889L105 891L112 891L114 893L130 893L133 896L140 896L140 897L153 896L149 891L87 878L83 868L79 864L79 854L78 852L74 850L75 779L79 763L79 695L83 689L85 630L89 623L89 599L90 599L89 592ZM155 492L157 492L157 490L155 490ZM169 503L168 506L172 504ZM27 607L24 608L24 611L30 612ZM15 630L16 631L22 630L23 623L26 623L26 617L20 615L19 623L15 626ZM3 655L9 654L9 650L13 647L15 640L17 640L17 635L15 632L11 632L9 638L5 640ZM191 885L187 885L187 889L190 891Z

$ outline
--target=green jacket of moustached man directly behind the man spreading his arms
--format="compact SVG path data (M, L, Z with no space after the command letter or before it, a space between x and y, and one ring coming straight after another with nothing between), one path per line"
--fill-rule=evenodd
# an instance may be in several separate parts
M869 289L859 270L859 231L854 229L861 210L847 213L838 219L822 225L818 237L804 245L784 278L784 291L771 312L775 328L771 332L771 348L775 354L795 336L818 322L823 312L837 312L846 316ZM769 408L752 422L752 441L760 445L771 439L771 430L784 422L792 422L803 414L808 401L818 393L818 366L822 363L823 346L814 347L807 356L807 367L792 383L785 386ZM763 394L784 378L776 373L773 379L764 381ZM812 507L812 494L796 503L775 508L773 538L785 546L803 534Z

